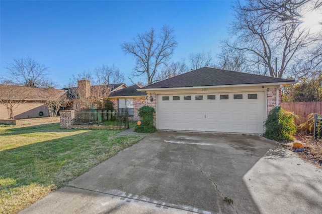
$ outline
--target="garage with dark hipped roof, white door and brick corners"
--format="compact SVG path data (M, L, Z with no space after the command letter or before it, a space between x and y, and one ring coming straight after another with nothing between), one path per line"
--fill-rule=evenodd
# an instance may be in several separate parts
M157 129L262 134L280 89L294 83L204 67L138 90L155 108Z

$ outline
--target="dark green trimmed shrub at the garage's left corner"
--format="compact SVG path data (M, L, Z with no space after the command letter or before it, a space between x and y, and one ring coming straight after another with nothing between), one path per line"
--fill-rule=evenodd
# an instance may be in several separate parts
M150 106L143 106L139 109L139 117L141 118L141 125L136 125L134 131L141 133L152 133L156 131L153 125L154 108Z

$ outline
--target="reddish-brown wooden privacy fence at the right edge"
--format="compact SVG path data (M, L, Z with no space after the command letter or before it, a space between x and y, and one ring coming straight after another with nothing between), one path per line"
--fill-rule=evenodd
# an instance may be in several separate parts
M293 112L299 116L299 119L295 119L295 124L299 125L307 120L309 114L322 114L322 102L292 102L281 103L281 108Z

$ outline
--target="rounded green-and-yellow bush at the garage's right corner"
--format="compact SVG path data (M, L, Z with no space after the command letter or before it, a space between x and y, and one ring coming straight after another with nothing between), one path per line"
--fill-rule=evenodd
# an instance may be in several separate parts
M281 109L280 106L273 108L265 120L265 137L271 140L293 141L296 133L294 115L291 112Z

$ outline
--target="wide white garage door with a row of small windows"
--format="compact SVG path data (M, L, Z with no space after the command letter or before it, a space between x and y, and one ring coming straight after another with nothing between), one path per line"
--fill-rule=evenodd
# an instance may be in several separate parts
M157 95L158 129L263 133L264 92Z

